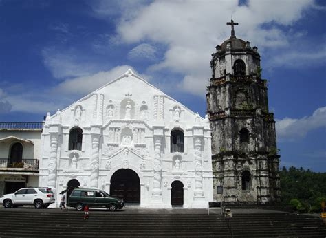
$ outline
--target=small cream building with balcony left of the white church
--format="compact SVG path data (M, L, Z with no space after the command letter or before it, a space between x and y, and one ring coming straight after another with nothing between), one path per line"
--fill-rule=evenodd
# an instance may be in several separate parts
M39 186L43 122L0 122L0 195Z

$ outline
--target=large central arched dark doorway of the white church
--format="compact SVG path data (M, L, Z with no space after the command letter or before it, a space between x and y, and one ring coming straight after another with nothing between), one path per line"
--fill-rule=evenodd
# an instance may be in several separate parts
M119 169L111 177L110 195L140 204L140 179L131 169Z

